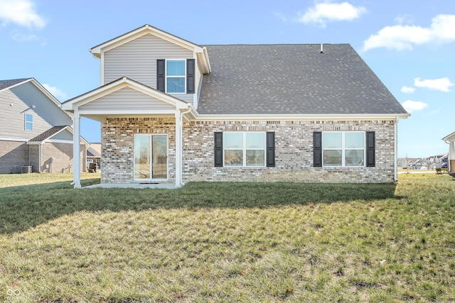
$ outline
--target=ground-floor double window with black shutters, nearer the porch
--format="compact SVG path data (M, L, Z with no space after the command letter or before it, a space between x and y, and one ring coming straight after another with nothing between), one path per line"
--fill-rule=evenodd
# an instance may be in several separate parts
M224 166L265 166L265 133L225 132Z

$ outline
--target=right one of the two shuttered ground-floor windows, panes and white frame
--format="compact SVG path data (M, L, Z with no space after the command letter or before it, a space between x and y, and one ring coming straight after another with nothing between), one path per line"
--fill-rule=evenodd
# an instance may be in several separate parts
M323 166L364 166L364 132L322 133Z

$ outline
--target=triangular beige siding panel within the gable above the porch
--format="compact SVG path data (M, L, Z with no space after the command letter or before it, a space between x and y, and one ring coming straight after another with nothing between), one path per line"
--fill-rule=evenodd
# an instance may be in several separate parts
M176 107L166 102L150 97L135 89L126 87L117 92L100 97L96 101L80 106L81 111L106 111L106 110L128 110L138 106L141 110L175 110Z

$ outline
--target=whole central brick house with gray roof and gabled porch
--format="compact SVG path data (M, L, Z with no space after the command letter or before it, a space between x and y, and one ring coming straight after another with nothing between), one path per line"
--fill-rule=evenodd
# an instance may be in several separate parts
M397 180L409 114L348 44L198 45L145 25L90 53L100 87L63 109L75 138L80 117L102 123L102 183Z

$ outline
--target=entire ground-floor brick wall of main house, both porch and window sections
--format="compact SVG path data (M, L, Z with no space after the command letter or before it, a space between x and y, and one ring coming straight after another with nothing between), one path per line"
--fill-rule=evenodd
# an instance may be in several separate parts
M191 121L183 123L183 182L394 182L395 121ZM215 131L274 131L275 167L214 167ZM314 131L375 131L375 167L313 167ZM175 182L175 119L117 118L102 124L102 183L134 182L134 134L168 135Z

